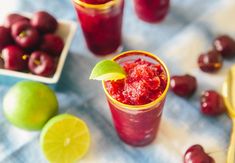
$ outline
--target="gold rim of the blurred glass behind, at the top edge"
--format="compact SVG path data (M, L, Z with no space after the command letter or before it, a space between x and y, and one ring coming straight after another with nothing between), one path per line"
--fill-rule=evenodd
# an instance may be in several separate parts
M83 2L81 0L73 0L76 4L85 7L85 8L90 8L90 9L98 9L98 10L105 10L108 9L117 3L119 3L121 0L111 0L109 2L103 3L103 4L90 4Z

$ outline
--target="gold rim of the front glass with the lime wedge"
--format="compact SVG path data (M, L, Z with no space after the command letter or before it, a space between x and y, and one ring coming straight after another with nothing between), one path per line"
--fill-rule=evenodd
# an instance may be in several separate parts
M161 66L165 69L166 71L166 76L167 76L167 85L166 88L164 89L163 93L161 94L160 97L156 98L154 101L144 104L144 105L129 105L129 104L124 104L122 102L119 102L118 100L114 99L107 91L106 87L105 87L105 81L102 80L102 85L103 85L103 90L106 94L106 96L114 103L114 104L118 104L120 107L129 109L129 110L146 110L149 109L151 107L153 107L154 105L158 104L160 101L162 101L165 97L166 94L168 92L169 86L170 86L170 73L168 68L166 67L165 63L157 56L155 56L154 54L147 52L147 51L142 51L142 50L129 50L129 51L125 51L117 56L115 56L114 58L112 58L112 61L115 61L117 58L121 57L122 55L128 54L128 53L140 53L140 54L146 54L147 56L150 56L151 58L157 60Z

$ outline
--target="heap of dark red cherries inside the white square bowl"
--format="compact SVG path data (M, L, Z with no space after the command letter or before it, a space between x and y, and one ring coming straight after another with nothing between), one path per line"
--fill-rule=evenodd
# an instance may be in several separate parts
M9 14L0 26L0 68L52 76L64 48L57 29L58 21L45 11L34 13L31 19Z

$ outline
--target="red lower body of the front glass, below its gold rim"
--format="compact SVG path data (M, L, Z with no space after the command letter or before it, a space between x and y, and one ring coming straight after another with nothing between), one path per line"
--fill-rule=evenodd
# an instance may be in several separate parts
M108 101L114 126L119 137L127 144L144 146L157 135L164 101L147 111L120 110Z

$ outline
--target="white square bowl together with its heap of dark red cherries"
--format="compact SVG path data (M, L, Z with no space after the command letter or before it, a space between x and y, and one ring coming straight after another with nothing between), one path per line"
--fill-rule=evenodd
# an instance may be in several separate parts
M0 82L35 80L56 84L76 23L46 11L11 13L0 25Z

